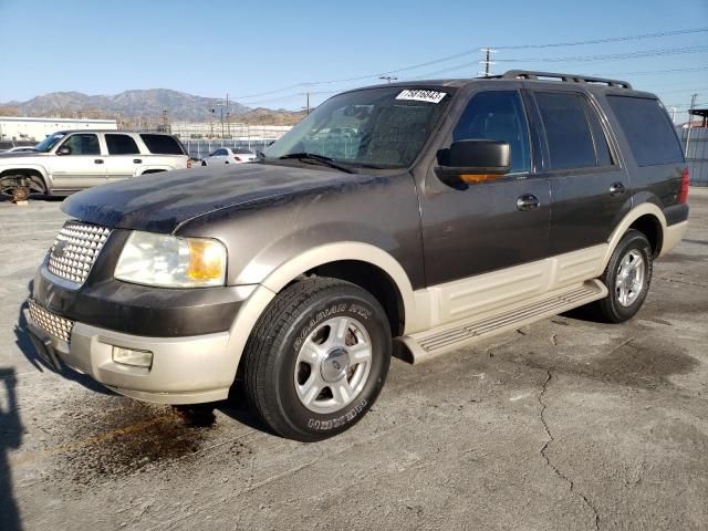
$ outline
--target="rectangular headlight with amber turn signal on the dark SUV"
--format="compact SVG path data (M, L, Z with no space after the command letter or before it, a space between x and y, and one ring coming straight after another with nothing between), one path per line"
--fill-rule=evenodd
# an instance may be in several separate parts
M135 231L125 242L113 275L163 288L223 285L226 248L206 238Z

